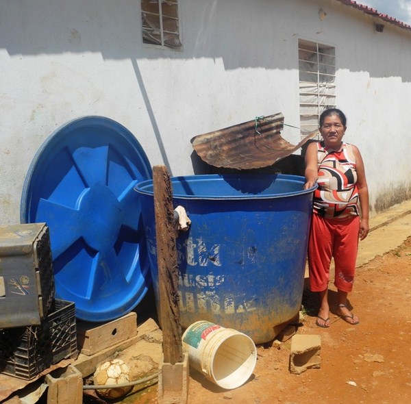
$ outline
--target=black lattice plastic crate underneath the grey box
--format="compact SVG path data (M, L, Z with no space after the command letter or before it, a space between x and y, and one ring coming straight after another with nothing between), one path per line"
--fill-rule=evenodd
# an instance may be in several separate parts
M40 326L0 330L0 373L33 379L65 358L77 358L75 303L55 299Z

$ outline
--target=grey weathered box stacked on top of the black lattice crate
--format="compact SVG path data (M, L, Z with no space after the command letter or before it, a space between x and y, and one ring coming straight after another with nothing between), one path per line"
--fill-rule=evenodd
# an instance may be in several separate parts
M0 329L40 325L54 293L47 225L0 226Z

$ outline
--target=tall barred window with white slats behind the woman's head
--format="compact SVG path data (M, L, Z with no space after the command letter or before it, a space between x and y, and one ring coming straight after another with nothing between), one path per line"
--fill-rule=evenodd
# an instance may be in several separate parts
M302 131L319 127L319 116L336 106L336 50L299 40L299 106Z

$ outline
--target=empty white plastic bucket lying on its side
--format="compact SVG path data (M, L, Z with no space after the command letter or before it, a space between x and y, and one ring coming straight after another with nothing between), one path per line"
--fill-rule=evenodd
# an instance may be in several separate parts
M238 388L256 367L256 345L235 329L201 320L184 331L182 341L190 366L221 388Z

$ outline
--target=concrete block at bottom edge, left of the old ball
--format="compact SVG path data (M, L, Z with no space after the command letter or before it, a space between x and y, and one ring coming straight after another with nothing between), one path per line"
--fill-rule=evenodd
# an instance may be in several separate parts
M73 365L45 376L47 404L82 404L83 376Z

